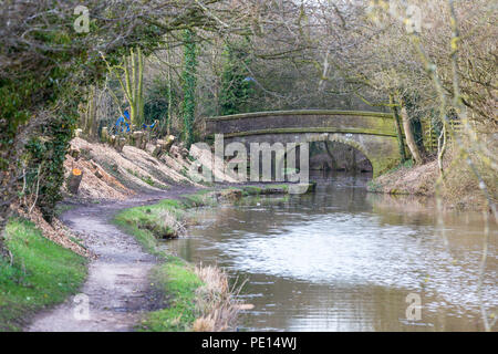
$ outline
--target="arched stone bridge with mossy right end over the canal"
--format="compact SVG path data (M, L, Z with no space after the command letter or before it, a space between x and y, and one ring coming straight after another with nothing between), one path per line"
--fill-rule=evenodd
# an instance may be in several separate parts
M340 142L362 152L374 177L401 162L391 114L353 111L278 111L206 118L209 137L224 134L225 145L251 143Z

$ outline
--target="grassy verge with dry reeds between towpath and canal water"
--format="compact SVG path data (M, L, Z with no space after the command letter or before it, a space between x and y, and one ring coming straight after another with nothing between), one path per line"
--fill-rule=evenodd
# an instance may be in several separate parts
M139 331L219 331L227 330L236 317L237 304L228 277L217 268L196 268L158 249L158 239L183 231L189 208L235 204L243 196L288 192L287 186L242 187L199 190L181 200L165 199L156 205L123 210L114 221L134 235L142 246L162 259L152 272L151 282L168 299L166 309L148 313Z

